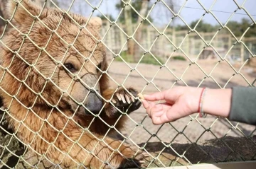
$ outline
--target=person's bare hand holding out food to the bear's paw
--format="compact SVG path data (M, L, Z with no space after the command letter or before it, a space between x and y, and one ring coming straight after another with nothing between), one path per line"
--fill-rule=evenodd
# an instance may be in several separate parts
M154 124L173 122L198 111L203 88L177 87L151 95L144 95L142 104ZM156 104L154 101L164 100ZM149 103L148 101L153 101Z

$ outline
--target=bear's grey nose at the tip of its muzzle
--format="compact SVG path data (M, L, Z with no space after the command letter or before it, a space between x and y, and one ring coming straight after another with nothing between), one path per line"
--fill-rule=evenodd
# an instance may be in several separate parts
M85 107L87 107L88 110L90 110L93 114L98 114L100 110L102 109L102 98L95 93L95 91L90 91L89 95L87 96L87 101L85 102ZM85 111L85 113L89 113Z

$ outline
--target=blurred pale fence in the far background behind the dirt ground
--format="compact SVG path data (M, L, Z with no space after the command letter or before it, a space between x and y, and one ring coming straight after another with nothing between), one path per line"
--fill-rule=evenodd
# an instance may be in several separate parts
M105 23L107 25L107 23ZM122 30L126 31L125 25L120 25ZM132 31L136 29L137 25L132 25ZM106 26L106 30L107 30ZM103 30L103 31L106 31ZM206 43L198 38L198 35L196 33L190 33L188 37L188 31L186 30L178 30L176 31L173 28L167 28L165 30L166 38L161 38L160 40L154 42L156 35L156 30L152 27L146 26L142 30L142 37L140 40L140 44L144 46L146 49L149 49L154 42L154 46L151 47L151 52L156 54L157 57L160 57L164 62L166 62L167 59L172 55L172 57L181 57L183 59L186 58L186 54L191 59L196 59L198 57L198 54L203 49L203 52L199 54L198 59L218 59L218 55L221 57L225 57L225 54L227 54L226 58L228 61L232 64L235 63L243 63L245 60L247 60L250 57L250 53L244 49L243 45L235 45L232 49L232 51L228 52L229 47L231 47L235 43L235 39L232 34L229 34L227 31L225 33L218 33L217 36L212 40L212 37L215 36L215 32L212 33L203 33L200 32L199 34L203 38L203 40L206 40L206 42L210 42L215 49L212 47L205 47ZM186 37L186 39L184 39ZM240 37L238 37L240 39ZM256 37L244 37L243 42L245 42L245 45L248 47L252 53L255 53L255 39ZM114 51L119 52L120 49L122 49L122 45L126 42L125 35L119 31L119 28L113 28L110 30L110 33L106 37L106 43L107 45ZM182 44L183 52L180 50L176 51L176 53L172 54L175 47L174 45L171 45L169 40L173 42L174 44ZM127 51L127 46L123 48L123 51ZM139 49L139 53L143 53L142 49Z

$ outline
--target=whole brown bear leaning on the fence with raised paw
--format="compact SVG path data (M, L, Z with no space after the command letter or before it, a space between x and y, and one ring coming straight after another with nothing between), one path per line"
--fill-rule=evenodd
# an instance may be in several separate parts
M8 1L0 40L0 94L9 124L30 151L75 168L129 168L144 153L110 132L141 103L134 88L108 85L100 21Z

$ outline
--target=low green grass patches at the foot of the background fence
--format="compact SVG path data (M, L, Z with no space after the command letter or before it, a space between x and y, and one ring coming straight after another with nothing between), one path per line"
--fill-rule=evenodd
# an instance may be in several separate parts
M124 59L125 62L135 63L134 57L130 54L127 54L127 52L122 52L120 55L121 55L122 59ZM122 59L120 57L116 57L114 60L117 62L122 62ZM161 64L164 64L164 61L160 57L156 57L156 59L158 59ZM143 57L143 59L140 63L159 65L159 62L157 62L156 59L154 59L154 57L152 57L151 54L145 54L145 56Z

